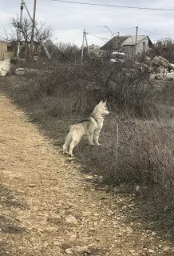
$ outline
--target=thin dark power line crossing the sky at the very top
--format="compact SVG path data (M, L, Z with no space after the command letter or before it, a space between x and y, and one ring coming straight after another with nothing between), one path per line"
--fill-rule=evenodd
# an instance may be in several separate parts
M79 4L79 5L88 5L88 6L107 6L107 7L126 8L126 9L139 9L139 10L165 10L165 11L174 11L174 9L151 8L151 7L138 7L138 6L114 6L114 5L98 4L98 3L91 3L91 2L73 2L73 1L65 1L65 0L51 0L51 1L66 2L66 3L73 3L73 4Z

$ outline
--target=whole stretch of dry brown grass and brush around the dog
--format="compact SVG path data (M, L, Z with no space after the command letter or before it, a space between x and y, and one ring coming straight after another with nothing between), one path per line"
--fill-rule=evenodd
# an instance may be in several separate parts
M140 186L137 202L143 202L144 216L170 225L174 234L173 85L156 90L146 73L137 75L128 68L128 77L123 67L115 69L101 63L61 63L47 77L22 78L22 86L9 92L58 144L63 144L71 123L107 98L113 114L105 120L100 150L84 138L74 154L84 172L99 176L97 186L133 192Z

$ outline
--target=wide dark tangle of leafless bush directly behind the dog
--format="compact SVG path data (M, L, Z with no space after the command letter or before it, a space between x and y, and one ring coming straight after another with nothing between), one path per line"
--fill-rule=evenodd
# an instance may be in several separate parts
M140 70L133 62L110 64L93 59L76 64L53 61L49 70L52 70L51 74L37 77L30 88L24 88L31 100L57 97L70 114L81 110L85 113L93 102L105 98L113 110L117 108L139 116L150 114L152 86L148 83L148 72ZM65 106L61 106L61 110L65 110Z

